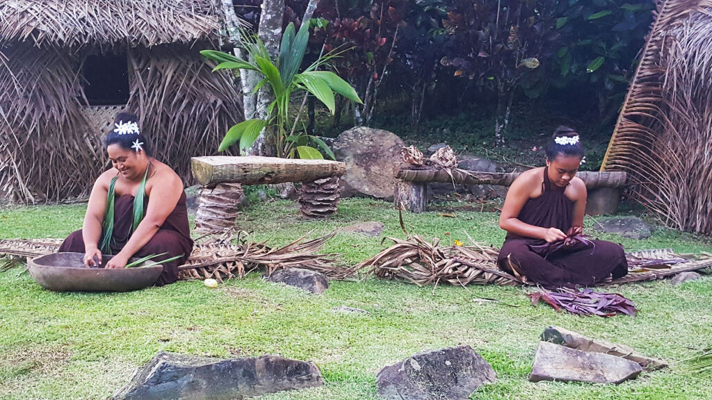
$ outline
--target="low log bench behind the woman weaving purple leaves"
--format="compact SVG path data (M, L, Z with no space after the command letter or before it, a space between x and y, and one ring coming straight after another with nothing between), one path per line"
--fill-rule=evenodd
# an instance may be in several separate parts
M429 182L447 182L465 185L509 186L520 172L476 172L465 169L441 169L434 167L414 168L399 164L395 169L395 206L414 213L427 211L427 187ZM576 174L588 190L586 213L590 215L615 214L620 191L625 186L625 172L590 172Z

